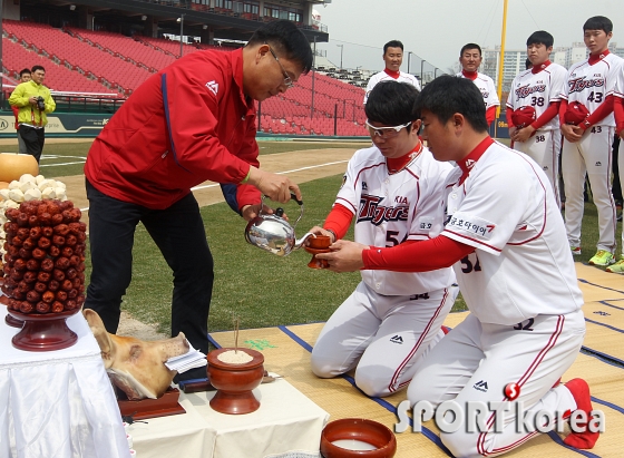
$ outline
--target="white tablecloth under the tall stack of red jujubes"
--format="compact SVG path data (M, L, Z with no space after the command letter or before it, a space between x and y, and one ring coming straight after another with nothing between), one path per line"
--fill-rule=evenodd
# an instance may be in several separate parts
M81 313L67 320L78 341L68 349L16 349L18 329L0 306L0 457L130 456L99 347Z

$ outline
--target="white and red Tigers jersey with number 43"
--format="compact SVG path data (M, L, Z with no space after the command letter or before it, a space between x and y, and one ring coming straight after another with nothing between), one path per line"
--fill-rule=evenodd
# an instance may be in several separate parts
M621 70L622 58L607 53L591 65L589 59L573 65L566 76L562 99L579 101L594 113L607 96L614 94L617 72ZM613 113L610 113L595 126L615 127Z

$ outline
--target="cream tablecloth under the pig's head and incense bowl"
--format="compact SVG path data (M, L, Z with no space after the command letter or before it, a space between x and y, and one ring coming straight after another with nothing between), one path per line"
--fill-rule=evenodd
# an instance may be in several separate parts
M247 415L214 411L214 391L185 394L185 415L133 423L138 458L318 458L329 413L283 379L254 390L260 409Z

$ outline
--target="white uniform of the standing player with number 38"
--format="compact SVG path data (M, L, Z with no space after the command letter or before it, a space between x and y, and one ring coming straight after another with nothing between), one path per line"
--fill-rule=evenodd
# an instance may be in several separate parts
M507 107L513 110L533 107L536 118L539 118L549 104L560 100L566 75L567 70L558 64L521 71L511 82ZM526 142L514 142L514 149L523 152L542 166L553 186L557 203L559 202L560 147L558 115L537 129Z

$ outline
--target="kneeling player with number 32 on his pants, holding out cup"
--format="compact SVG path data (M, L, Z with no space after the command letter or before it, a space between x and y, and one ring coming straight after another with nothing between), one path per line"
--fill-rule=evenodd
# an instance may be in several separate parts
M433 406L455 400L462 409L470 401L493 406L508 400L505 387L514 382L529 422L535 425L536 412L548 412L550 421L540 416L539 426L552 430L555 418L592 411L584 380L558 383L583 343L583 298L548 178L533 159L487 135L479 98L468 81L440 77L417 103L433 157L458 164L447 178L448 216L439 236L391 249L339 241L334 252L318 257L338 272L423 272L452 264L470 314L419 364L408 399ZM538 433L508 413L494 431L496 416L486 413L485 430L469 432L464 425L440 438L456 457L481 457ZM599 433L582 429L564 441L592 448Z

